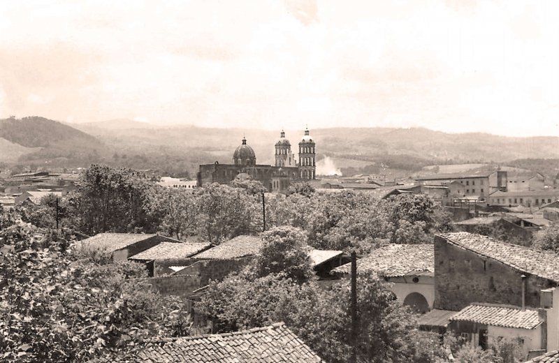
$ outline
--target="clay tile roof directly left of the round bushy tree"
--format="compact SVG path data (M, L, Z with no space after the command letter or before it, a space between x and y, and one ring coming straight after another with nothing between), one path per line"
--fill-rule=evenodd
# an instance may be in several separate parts
M261 247L261 237L238 236L233 239L229 239L222 244L218 244L207 251L198 253L198 255L194 255L193 258L201 260L227 260L230 258L240 258L248 255L259 254Z

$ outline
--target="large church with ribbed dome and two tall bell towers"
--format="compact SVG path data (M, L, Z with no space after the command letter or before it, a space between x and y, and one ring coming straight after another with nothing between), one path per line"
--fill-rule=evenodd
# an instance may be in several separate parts
M200 165L198 171L198 186L219 183L229 184L235 177L250 177L261 182L268 191L285 193L292 182L302 182L316 179L316 144L310 136L308 128L299 141L299 158L291 151L291 142L285 138L282 131L275 143L275 165L256 163L256 154L242 138L242 144L233 153L232 164Z

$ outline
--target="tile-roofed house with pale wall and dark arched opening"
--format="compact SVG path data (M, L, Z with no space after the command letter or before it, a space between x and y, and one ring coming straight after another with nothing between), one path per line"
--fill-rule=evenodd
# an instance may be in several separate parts
M433 309L435 266L433 244L389 244L357 261L358 274L379 274L390 283L398 301L425 313ZM351 263L333 269L349 278Z

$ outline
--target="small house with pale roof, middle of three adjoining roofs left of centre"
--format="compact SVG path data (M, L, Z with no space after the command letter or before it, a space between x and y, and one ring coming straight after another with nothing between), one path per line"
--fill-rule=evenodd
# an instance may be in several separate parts
M176 266L191 263L189 259L191 256L201 253L211 246L212 244L209 243L161 242L150 249L129 257L129 260L145 263L150 276L161 276L176 272ZM175 269L171 267L175 267Z

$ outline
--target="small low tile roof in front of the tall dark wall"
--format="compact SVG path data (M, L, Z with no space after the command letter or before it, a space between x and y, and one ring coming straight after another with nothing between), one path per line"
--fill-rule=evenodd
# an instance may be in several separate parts
M449 318L451 321L472 321L497 327L534 329L543 323L537 310L491 304L471 304Z

